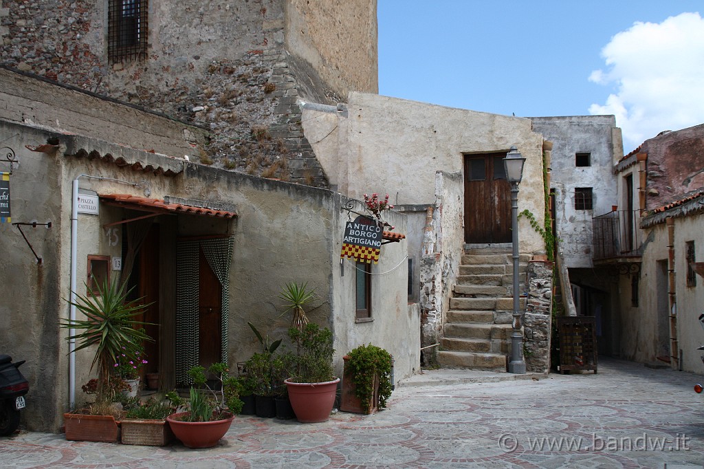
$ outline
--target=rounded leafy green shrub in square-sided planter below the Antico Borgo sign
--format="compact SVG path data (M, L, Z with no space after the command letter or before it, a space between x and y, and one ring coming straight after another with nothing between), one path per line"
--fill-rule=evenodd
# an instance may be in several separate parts
M358 346L343 358L345 366L340 409L372 413L377 408L385 408L392 388L391 354L368 344Z

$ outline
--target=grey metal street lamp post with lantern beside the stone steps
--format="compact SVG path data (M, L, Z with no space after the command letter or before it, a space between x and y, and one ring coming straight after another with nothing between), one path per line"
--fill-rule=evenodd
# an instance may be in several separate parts
M511 244L513 246L513 332L511 332L511 358L508 363L508 373L522 375L526 372L523 361L523 332L521 331L521 313L518 283L518 185L523 177L523 158L515 146L503 158L506 180L511 185Z

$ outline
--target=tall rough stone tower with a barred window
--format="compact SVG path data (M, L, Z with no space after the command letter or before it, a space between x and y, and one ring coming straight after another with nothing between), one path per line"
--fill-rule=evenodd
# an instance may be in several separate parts
M0 3L3 65L203 125L222 168L325 187L298 99L378 91L376 0Z

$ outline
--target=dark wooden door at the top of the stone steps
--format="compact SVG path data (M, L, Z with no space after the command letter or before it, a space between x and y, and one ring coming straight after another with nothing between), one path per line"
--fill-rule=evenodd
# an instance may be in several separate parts
M465 155L465 242L511 242L511 192L505 154Z

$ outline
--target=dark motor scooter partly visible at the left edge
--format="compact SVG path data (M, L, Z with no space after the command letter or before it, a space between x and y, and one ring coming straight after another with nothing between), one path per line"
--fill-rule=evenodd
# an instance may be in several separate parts
M0 355L0 437L6 437L20 425L20 410L25 408L25 394L30 383L20 373L20 365L9 355Z

